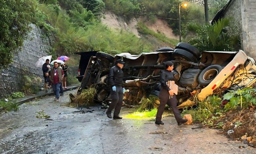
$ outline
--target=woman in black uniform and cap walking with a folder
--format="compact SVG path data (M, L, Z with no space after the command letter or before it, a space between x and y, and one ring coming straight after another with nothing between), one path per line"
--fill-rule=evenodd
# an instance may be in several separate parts
M186 119L181 118L181 114L179 112L179 109L177 108L177 98L176 95L173 93L173 91L167 86L168 81L174 82L174 76L172 74L173 70L173 63L171 61L164 62L165 69L160 74L160 83L161 83L161 90L160 90L160 105L157 110L157 116L156 116L156 122L157 125L163 125L163 122L161 122L162 114L165 105L172 107L174 117L178 123L178 125L181 125L185 122L187 122ZM172 95L172 97L170 97Z

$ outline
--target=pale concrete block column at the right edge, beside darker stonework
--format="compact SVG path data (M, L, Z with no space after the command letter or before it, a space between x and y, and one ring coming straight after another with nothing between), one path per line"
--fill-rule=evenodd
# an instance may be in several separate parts
M256 59L256 0L242 1L243 49Z

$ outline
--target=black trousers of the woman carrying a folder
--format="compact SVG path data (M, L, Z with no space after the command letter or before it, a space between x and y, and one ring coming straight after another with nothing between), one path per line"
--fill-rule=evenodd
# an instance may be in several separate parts
M182 118L181 118L181 113L179 112L179 109L177 108L178 102L177 102L176 95L174 94L170 98L169 92L166 89L162 88L160 90L159 98L160 98L160 105L157 109L156 121L161 121L164 107L167 104L168 106L172 107L173 114L174 114L176 121L180 122L182 120Z

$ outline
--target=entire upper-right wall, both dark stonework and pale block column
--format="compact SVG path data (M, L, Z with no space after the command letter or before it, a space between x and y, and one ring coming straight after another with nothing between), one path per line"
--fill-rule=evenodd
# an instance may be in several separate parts
M238 29L241 39L241 49L256 59L256 0L231 0L224 12L224 17Z

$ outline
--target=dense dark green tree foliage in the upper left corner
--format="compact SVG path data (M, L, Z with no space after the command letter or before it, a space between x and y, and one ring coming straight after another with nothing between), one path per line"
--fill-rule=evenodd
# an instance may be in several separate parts
M34 0L0 0L0 69L6 68L23 45L34 21Z

